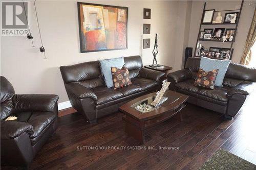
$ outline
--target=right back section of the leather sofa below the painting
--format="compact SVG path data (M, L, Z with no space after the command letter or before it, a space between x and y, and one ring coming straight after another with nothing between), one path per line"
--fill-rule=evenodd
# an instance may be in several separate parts
M138 77L140 68L143 67L140 56L124 57L124 63L130 72L130 79Z

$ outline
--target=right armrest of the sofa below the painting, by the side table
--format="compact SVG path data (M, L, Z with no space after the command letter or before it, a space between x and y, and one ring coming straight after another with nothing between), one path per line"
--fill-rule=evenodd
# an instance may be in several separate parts
M145 78L145 79L151 79L155 81L160 81L161 77L165 75L164 72L161 71L156 71L153 69L148 69L148 68L141 68L140 69L140 77Z

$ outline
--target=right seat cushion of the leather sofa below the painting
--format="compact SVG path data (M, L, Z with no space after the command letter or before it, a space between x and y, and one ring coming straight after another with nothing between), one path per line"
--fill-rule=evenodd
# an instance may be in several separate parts
M134 85L142 87L143 90L147 90L159 85L156 81L151 79L134 78L131 81Z

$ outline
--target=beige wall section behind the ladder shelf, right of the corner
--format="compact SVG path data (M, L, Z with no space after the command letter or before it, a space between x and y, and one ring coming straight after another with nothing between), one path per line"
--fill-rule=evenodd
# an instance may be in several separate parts
M252 16L254 13L255 6L249 6L251 1L244 1L241 18L239 20L238 31L236 35L236 42L233 44L233 56L232 62L239 63L241 56L243 54L244 44L246 41L246 37L250 28ZM240 9L241 1L207 1L206 9L216 9L216 10L229 10L229 9ZM193 47L193 50L196 46L198 30L200 27L202 10L204 7L204 1L193 1L192 4L192 12L191 12L191 20L190 20L190 30L189 30L189 41L188 45ZM225 12L222 12L222 19L224 19ZM219 25L219 26L204 26L204 28L234 28L233 26ZM203 46L209 48L209 46L214 47L230 47L230 43L221 43L221 42L207 42L201 41ZM193 51L194 55L194 51Z

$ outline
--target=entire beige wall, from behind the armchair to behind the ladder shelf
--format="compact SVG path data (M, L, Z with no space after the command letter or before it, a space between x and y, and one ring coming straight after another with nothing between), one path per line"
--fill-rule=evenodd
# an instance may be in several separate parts
M40 40L34 8L31 24L34 43L26 37L1 37L1 75L13 84L16 93L54 93L59 102L68 101L59 71L61 65L121 56L141 55L143 64L151 64L155 33L158 33L158 62L182 68L185 47L195 48L203 1L84 1L129 7L128 49L80 53L76 1L37 0L42 39L48 59L38 52ZM245 2L234 44L233 62L239 62L254 7ZM239 8L240 2L209 2L208 9ZM152 9L152 18L143 19L143 8ZM143 35L143 23L151 23L151 35ZM151 38L151 48L142 50L142 39ZM215 44L212 44L215 45ZM218 45L218 44L217 44Z

